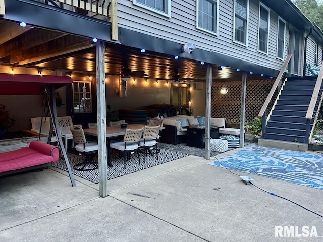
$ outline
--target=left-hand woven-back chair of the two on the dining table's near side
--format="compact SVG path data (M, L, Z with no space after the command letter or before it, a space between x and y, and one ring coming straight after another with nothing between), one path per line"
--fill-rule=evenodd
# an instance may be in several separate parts
M126 168L126 160L130 160L130 154L133 154L135 150L138 153L138 160L140 165L140 152L139 152L139 141L141 139L143 128L141 129L126 129L123 141L115 142L110 144L110 148L120 151L123 153L124 167Z

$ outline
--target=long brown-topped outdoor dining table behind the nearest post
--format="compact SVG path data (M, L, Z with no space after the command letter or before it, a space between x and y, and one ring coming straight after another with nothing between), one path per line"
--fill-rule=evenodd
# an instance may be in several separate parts
M128 129L141 129L142 127L147 126L147 124L128 124ZM126 128L121 128L120 126L107 126L106 127L106 138L107 138L107 165L113 167L110 161L110 138L124 135L126 133ZM84 134L97 136L97 128L84 129Z

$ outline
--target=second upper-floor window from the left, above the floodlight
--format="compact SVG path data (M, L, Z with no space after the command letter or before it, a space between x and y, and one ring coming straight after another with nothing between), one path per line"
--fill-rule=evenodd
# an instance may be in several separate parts
M196 28L218 34L219 0L197 0Z

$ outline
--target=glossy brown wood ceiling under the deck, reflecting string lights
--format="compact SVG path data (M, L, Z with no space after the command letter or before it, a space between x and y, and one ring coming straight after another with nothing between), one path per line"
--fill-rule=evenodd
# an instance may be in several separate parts
M0 21L0 31L0 65L95 73L95 44L89 38L36 27L22 28L5 21ZM119 75L123 67L144 71L149 79L172 79L178 72L182 80L206 80L206 65L199 62L106 43L106 75ZM241 75L230 68L218 70L213 66L213 80L241 81Z

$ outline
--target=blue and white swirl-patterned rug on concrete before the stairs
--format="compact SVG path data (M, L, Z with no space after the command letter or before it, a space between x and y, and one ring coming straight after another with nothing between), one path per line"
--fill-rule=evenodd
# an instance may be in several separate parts
M323 189L323 155L252 146L209 165Z

